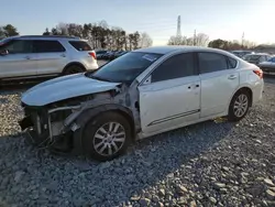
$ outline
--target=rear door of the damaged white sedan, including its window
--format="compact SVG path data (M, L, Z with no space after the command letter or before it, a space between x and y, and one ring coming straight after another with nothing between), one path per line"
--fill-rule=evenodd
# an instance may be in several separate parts
M238 62L222 54L198 53L201 80L200 118L228 111L230 99L239 87Z

